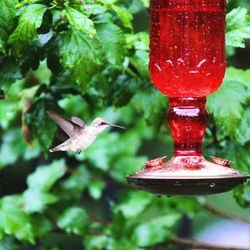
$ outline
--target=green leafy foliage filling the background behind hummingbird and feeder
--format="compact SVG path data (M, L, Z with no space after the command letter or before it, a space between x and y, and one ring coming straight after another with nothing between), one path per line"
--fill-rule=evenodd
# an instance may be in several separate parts
M229 3L228 50L250 38L250 6L238 2ZM168 101L150 83L147 27L137 20L148 7L148 0L1 1L0 175L22 175L23 186L2 193L0 249L167 246L180 219L202 209L195 198L158 199L131 190L125 180L147 159L145 143L153 151L169 139L162 126ZM245 173L249 83L249 70L229 65L223 85L208 98L205 141L206 150ZM79 156L48 154L58 141L47 110L87 123L101 116L128 129L103 134ZM235 198L249 207L249 184L237 188Z

